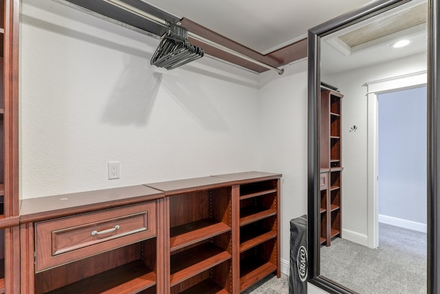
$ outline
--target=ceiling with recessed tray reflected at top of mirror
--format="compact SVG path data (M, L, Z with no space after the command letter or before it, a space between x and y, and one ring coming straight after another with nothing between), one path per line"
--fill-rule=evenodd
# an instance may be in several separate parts
M327 76L415 54L426 54L428 3L412 0L321 39L321 74ZM401 39L404 48L392 45Z

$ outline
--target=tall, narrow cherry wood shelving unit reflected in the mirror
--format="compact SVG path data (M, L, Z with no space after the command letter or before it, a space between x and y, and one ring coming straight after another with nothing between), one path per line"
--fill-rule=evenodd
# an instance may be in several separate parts
M343 95L321 92L320 167L327 174L327 187L321 187L321 244L342 237L342 107Z

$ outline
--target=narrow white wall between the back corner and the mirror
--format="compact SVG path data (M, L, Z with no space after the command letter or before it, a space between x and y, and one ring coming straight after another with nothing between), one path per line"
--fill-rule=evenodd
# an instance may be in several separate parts
M283 173L281 180L281 262L288 273L290 220L307 213L307 61L285 74L261 74L261 170Z

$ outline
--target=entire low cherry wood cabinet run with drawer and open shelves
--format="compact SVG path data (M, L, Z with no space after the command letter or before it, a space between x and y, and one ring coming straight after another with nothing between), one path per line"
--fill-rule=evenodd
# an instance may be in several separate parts
M21 201L21 293L240 293L280 269L281 174Z

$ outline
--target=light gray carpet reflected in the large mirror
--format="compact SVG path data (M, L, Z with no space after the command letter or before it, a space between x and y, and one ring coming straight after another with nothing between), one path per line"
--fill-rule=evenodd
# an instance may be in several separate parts
M341 238L321 247L321 274L362 294L426 293L426 233L379 225L379 247Z

